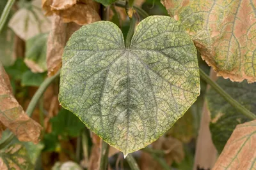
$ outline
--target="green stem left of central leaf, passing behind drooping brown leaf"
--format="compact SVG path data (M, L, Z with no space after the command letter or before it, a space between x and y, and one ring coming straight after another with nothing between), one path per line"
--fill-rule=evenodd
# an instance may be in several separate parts
M29 117L32 115L33 111L35 110L36 104L38 103L40 97L44 94L47 87L49 87L52 81L58 76L60 76L60 71L58 71L58 73L56 73L54 76L46 78L44 82L40 85L38 90L36 90L36 93L32 97L28 105L28 108L26 110L26 113L28 114ZM5 148L7 145L9 145L13 138L14 138L14 134L10 133L9 136L6 139L4 139L2 143L0 143L0 150Z

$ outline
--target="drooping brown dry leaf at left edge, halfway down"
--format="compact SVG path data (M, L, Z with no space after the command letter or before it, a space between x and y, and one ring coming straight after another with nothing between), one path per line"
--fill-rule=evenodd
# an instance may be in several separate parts
M0 121L20 141L38 143L42 127L26 115L12 95L10 80L0 64Z

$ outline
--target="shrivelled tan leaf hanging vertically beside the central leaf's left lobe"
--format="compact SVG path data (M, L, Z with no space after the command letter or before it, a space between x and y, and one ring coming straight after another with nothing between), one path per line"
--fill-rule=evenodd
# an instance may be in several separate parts
M61 56L68 38L81 26L74 22L64 24L61 17L54 15L52 29L47 41L47 69L48 76L54 75L61 67Z

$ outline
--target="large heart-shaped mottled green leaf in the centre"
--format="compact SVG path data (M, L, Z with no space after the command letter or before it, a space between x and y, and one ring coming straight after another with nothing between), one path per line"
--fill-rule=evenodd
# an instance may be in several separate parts
M125 154L156 141L200 92L195 46L170 17L141 21L129 48L111 22L83 26L62 61L61 106Z

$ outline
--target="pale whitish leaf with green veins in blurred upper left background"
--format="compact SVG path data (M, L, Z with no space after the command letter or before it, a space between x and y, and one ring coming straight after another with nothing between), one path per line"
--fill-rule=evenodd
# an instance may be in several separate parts
M51 20L46 18L42 10L38 8L37 1L35 0L29 4L31 6L29 10L22 8L17 11L8 23L15 34L24 40L48 32L51 29Z

